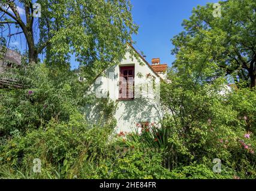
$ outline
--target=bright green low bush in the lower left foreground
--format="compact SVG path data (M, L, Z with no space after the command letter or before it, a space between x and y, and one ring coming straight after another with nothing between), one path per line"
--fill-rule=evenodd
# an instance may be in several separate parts
M65 178L80 177L83 164L91 163L96 168L110 155L107 140L111 132L112 127L88 128L82 115L71 116L68 123L50 121L45 128L2 145L0 164L11 171L22 168L33 174L33 160L38 158L42 164L40 178L53 176L55 171Z

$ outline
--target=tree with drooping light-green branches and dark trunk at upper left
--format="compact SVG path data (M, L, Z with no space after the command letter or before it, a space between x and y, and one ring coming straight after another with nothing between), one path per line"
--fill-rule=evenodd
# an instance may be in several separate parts
M39 18L34 17L33 3L2 0L0 4L0 27L19 28L9 37L24 34L29 62L37 63L38 55L46 53L48 63L69 63L74 54L80 64L100 70L124 55L126 42L137 32L127 0L38 0Z

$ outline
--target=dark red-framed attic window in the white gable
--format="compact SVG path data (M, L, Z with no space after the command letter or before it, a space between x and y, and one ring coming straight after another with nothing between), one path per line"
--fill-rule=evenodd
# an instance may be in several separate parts
M120 67L119 100L134 99L134 66Z

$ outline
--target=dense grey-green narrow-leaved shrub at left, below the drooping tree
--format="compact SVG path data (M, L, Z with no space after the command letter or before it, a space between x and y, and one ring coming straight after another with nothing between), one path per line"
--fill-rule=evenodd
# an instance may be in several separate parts
M79 83L75 82L75 75L66 70L61 70L66 78L56 81L56 76L61 76L59 70L51 70L40 64L5 73L25 88L0 90L2 136L39 128L52 118L56 121L68 121L70 115L77 112L78 101L73 91ZM52 77L53 73L55 78Z

